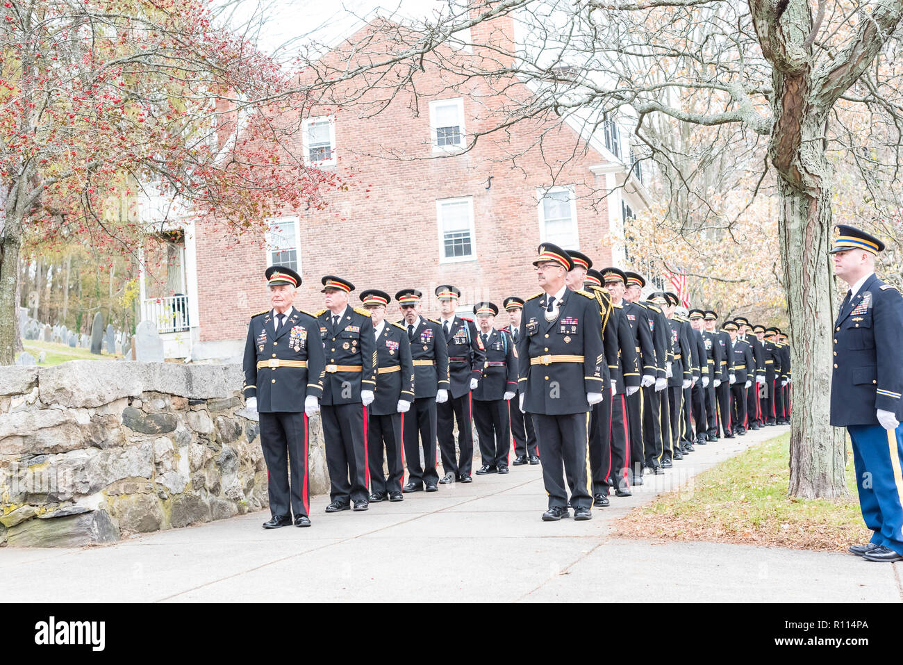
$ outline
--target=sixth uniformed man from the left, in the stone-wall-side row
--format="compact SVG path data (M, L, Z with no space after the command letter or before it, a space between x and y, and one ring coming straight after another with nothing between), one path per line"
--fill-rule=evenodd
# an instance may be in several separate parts
M517 393L517 350L511 336L496 330L498 305L478 303L473 314L479 323L479 339L486 350L483 372L473 389L473 421L479 436L479 454L483 465L508 473L511 437L508 402Z

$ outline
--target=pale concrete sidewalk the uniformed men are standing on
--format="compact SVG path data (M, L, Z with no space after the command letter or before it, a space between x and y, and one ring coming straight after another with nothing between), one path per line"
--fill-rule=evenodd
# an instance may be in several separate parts
M475 476L436 493L323 512L266 531L268 512L107 547L0 549L0 601L901 602L900 564L843 553L618 539L611 523L749 445L767 427L697 446L587 522L543 522L541 467ZM896 569L895 569L896 568Z

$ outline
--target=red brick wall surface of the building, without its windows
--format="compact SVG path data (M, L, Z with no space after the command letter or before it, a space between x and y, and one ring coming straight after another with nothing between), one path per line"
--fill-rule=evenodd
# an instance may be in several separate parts
M581 198L589 197L593 187L589 166L604 160L584 149L568 127L518 125L505 136L483 137L469 153L449 158L403 161L376 156L386 147L406 157L433 154L429 100L434 92L435 98L464 98L468 134L490 122L478 119L492 112L495 96L487 84L471 79L462 95L442 90L448 84L435 71L421 75L418 117L409 106L410 97L396 99L373 118L358 118L354 109L337 114L335 168L349 179L349 191L327 194L324 211L285 211L301 218L303 285L295 306L321 310L320 279L327 274L357 286L351 294L353 305L360 304L359 294L366 288L394 295L414 286L432 296L435 286L445 283L461 288L462 304L485 299L501 308L507 295L535 295L539 289L531 262L540 242L536 189L553 184L576 185L580 249L599 267L610 265L606 203L595 201L593 210L589 199ZM314 110L311 115L320 114ZM517 167L505 161L506 155L519 155ZM357 172L353 176L351 166ZM473 201L477 259L441 263L436 200L464 196ZM269 304L261 240L246 237L230 243L209 224L199 224L197 256L201 340L243 338L248 316ZM438 313L434 299L424 304L424 314ZM396 314L393 301L391 320L399 318ZM502 311L496 324L505 323Z

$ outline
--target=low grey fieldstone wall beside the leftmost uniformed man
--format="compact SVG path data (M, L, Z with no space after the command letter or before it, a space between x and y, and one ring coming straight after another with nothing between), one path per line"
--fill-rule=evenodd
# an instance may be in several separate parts
M0 546L107 543L265 508L241 385L237 365L0 367ZM329 491L319 425L312 493Z

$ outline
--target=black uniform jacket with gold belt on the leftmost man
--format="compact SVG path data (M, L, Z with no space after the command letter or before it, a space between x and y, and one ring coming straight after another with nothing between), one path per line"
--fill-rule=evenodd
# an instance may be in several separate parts
M277 333L273 311L251 318L245 343L245 398L260 413L304 410L304 398L323 394L323 347L312 314L292 308ZM370 333L371 336L373 333Z

